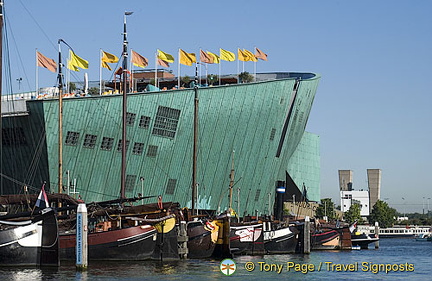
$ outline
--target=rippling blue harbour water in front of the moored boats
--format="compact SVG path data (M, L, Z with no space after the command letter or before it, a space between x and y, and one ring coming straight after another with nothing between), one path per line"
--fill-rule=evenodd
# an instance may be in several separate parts
M177 262L91 262L86 272L76 272L74 263L58 269L0 268L1 280L432 280L432 242L414 239L382 239L380 248L353 251L320 251L310 255L243 256L234 259L237 269L231 276L221 273L219 260ZM255 269L247 271L245 265ZM294 266L287 271L287 263ZM321 269L318 267L321 263ZM332 263L333 269L327 267ZM355 267L357 263L357 267ZM373 266L371 266L373 264ZM405 266L408 264L408 267ZM280 273L266 271L276 265ZM351 268L342 268L342 265ZM374 266L389 265L397 271L385 272ZM402 265L402 266L400 266ZM412 267L411 267L412 266ZM261 267L261 268L260 268ZM297 268L298 271L295 271ZM384 271L379 271L379 269ZM403 270L401 270L403 269ZM303 272L302 272L303 271Z

